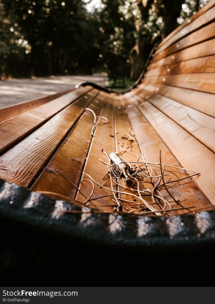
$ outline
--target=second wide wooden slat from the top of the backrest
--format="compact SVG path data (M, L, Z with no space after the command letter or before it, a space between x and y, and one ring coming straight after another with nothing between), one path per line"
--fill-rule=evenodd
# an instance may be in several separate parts
M205 40L214 38L215 36L215 22L210 23L209 25L197 30L196 32L191 33L190 35L184 37L178 42L172 44L166 50L161 51L158 55L153 57L153 62L166 57L170 54L178 52L184 48L190 47L194 44L203 42Z

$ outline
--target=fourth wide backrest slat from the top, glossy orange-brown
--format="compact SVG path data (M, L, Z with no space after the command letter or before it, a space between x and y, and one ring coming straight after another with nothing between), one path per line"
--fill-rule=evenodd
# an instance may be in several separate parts
M215 56L206 56L201 58L181 61L175 64L169 64L155 69L150 69L145 73L145 77L166 75L166 74L190 74L190 73L214 73Z

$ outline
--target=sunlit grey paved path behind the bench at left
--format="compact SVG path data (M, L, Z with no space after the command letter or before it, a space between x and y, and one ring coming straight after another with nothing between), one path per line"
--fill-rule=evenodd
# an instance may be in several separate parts
M34 79L3 80L0 81L0 108L66 91L83 81L95 82L104 86L107 77L98 74L94 76L50 76Z

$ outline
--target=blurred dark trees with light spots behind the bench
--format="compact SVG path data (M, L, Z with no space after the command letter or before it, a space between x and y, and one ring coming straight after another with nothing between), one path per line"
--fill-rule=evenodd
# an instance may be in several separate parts
M0 0L0 78L107 73L129 85L155 42L208 2Z

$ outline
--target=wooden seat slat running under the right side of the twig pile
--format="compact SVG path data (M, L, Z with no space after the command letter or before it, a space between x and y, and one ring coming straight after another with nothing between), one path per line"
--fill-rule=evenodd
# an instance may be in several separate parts
M164 164L181 167L181 164L177 161L166 144L155 132L155 130L148 123L138 108L135 105L129 105L131 102L136 103L136 97L132 97L132 95L132 93L130 96L128 95L127 102L125 97L123 100L125 102L125 105L127 104L126 113L128 114L128 118L138 140L139 147L144 154L145 160L155 163L160 162L160 151L162 151L162 162ZM180 179L186 176L183 170L168 167L166 167L166 173L173 174L175 177L174 179ZM169 177L165 177L165 181L167 181L168 178ZM199 189L194 185L193 181L190 178L184 181L179 181L177 183L177 187L170 188L169 190L176 199L180 200L180 203L184 207L195 206L195 210L210 206L210 203L206 201L204 196L201 194ZM168 197L168 195L165 193L165 190L162 190L162 195L164 195L164 197ZM180 214L183 212L184 211L178 211L172 213Z

